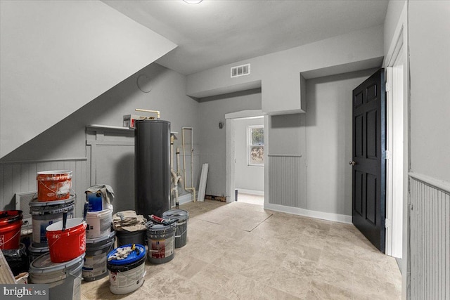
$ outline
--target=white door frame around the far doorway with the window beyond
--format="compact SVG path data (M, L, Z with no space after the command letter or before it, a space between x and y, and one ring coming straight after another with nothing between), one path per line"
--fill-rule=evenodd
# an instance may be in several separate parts
M234 119L245 119L250 117L261 117L264 115L262 110L241 110L239 112L230 112L225 114L226 127L226 202L235 200L235 158L236 158L236 134ZM269 149L269 136L267 128L268 116L264 115L264 204L266 202L266 169L267 152Z

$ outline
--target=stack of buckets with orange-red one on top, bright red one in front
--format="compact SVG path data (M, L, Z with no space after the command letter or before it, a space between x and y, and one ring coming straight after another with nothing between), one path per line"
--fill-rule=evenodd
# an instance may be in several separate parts
M39 172L37 199L30 202L30 282L48 284L49 299L81 298L86 222L73 218L76 197L70 195L71 178L72 171Z

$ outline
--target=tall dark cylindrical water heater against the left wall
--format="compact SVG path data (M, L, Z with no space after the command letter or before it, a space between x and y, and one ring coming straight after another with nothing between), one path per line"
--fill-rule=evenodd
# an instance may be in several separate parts
M170 122L136 120L134 155L136 214L162 216L170 209Z

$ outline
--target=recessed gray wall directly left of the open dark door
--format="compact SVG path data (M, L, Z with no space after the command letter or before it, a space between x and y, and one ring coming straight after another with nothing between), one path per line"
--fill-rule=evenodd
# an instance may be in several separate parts
M307 209L352 215L352 90L376 69L307 80Z

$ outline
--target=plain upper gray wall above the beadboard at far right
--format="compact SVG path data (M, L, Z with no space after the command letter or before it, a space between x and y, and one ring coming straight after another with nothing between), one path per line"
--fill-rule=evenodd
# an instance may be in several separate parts
M450 182L450 2L409 1L411 171Z

